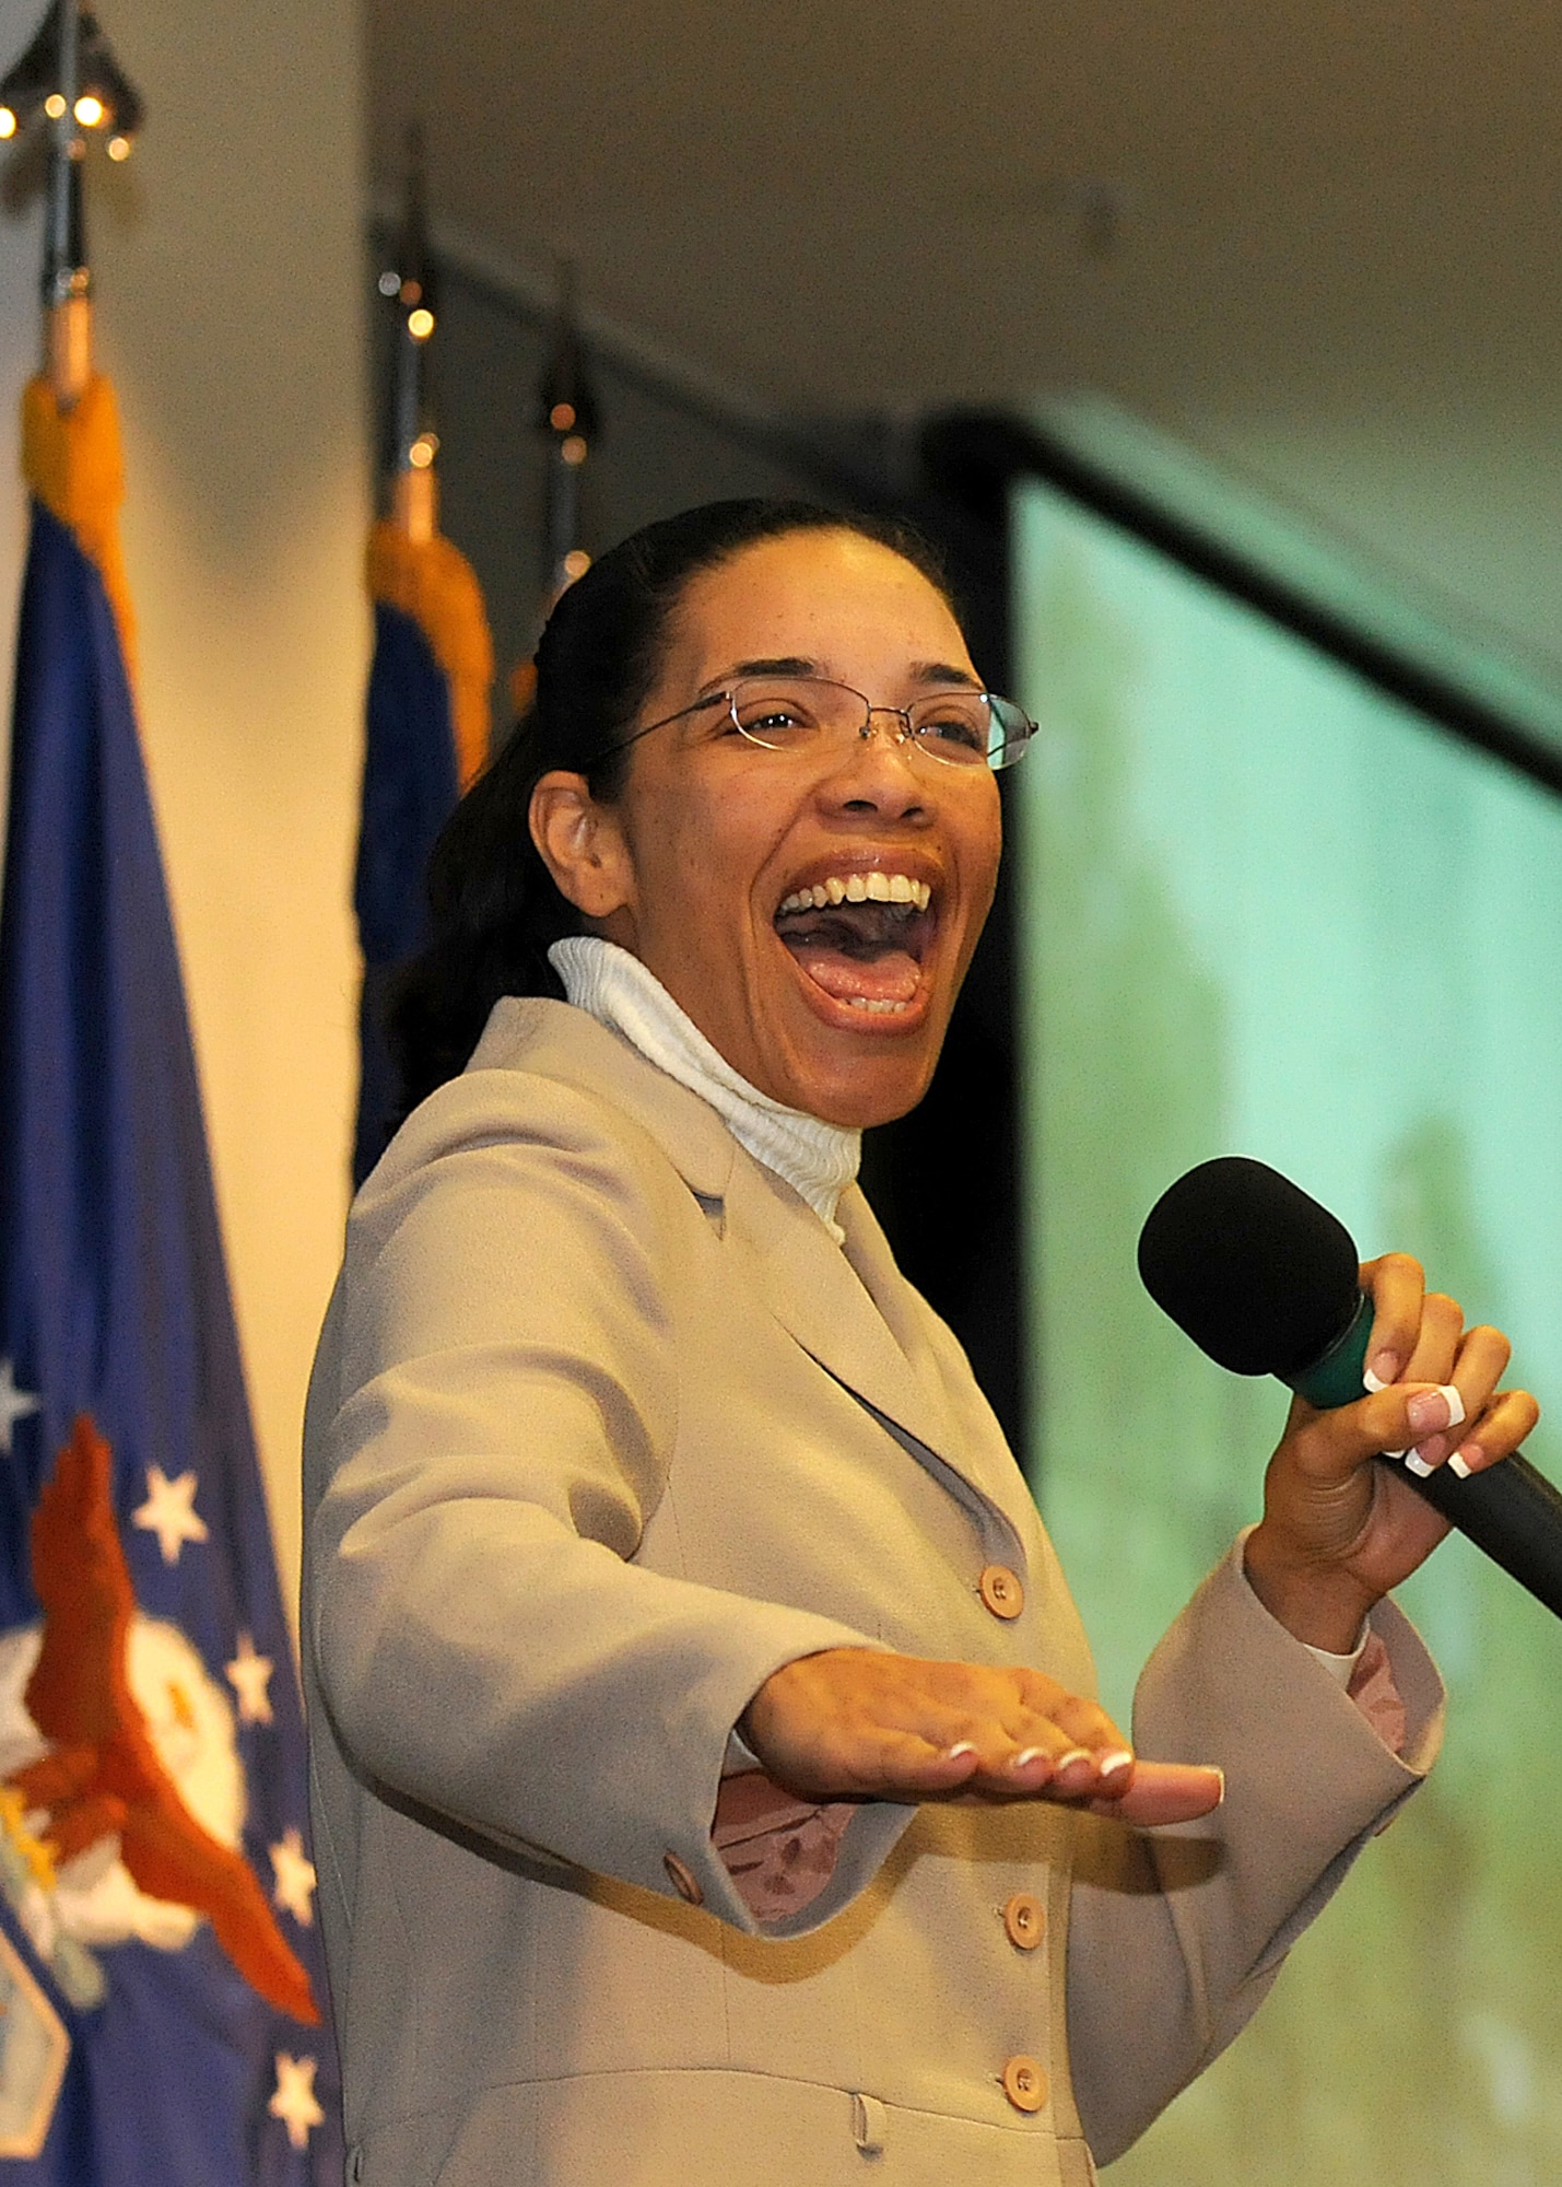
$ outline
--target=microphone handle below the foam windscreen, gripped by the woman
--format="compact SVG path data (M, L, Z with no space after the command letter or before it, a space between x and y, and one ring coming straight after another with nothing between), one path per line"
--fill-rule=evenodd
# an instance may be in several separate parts
M1332 1408L1354 1404L1363 1395L1361 1371L1367 1363L1372 1332L1372 1299L1363 1295L1356 1317L1337 1336L1321 1360L1299 1376L1282 1376L1308 1404ZM1459 1481L1448 1465L1437 1465L1424 1478L1402 1459L1378 1459L1409 1481L1418 1496L1442 1511L1492 1564L1527 1588L1538 1603L1562 1618L1562 1492L1536 1472L1529 1459L1514 1452L1490 1472Z

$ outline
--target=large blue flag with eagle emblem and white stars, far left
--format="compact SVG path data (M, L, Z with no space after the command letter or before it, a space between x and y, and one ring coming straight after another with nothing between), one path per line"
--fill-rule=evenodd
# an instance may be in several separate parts
M118 470L107 383L70 418L35 383L42 431L72 525L35 499L0 901L0 2156L339 2187L302 1708L112 512L70 488Z

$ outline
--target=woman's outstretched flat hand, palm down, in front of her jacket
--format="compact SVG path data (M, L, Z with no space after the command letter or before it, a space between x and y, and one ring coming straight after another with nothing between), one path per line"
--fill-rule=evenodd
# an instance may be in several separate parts
M1219 1769L1142 1763L1105 1710L1039 1671L825 1649L783 1664L739 1723L803 1800L1054 1800L1140 1826L1219 1806Z

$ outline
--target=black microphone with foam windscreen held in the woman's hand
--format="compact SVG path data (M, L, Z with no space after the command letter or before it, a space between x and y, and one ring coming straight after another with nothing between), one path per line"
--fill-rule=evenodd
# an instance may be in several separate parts
M1350 1231L1280 1170L1247 1155L1201 1161L1140 1231L1140 1277L1179 1330L1232 1373L1271 1373L1308 1404L1354 1404L1372 1299ZM1562 1494L1514 1452L1459 1481L1378 1461L1562 1616Z

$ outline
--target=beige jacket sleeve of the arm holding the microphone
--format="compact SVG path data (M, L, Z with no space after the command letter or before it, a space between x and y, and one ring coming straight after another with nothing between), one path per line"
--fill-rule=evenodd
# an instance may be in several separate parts
M1407 1736L1394 1754L1262 1607L1243 1544L1144 1669L1146 1756L1219 1763L1214 1815L1168 1831L1081 1820L1068 2030L1085 2137L1111 2163L1254 2014L1280 1962L1387 1828L1442 1743L1444 1691L1415 1629L1378 1603Z

